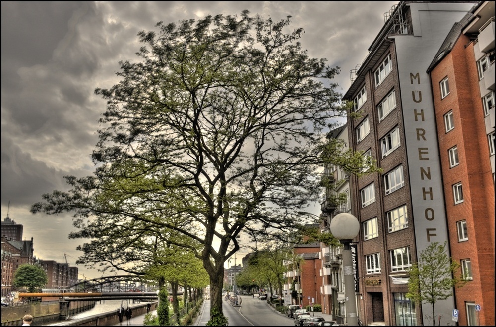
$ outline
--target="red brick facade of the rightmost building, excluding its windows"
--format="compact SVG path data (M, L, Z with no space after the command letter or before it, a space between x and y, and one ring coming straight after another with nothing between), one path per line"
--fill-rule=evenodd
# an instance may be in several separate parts
M445 77L450 93L441 99L439 81ZM431 80L451 256L458 263L470 260L472 270L471 280L455 289L456 308L460 311L458 323L468 325L468 303L483 308L478 314L479 325L494 325L495 195L474 42L460 35L451 52L432 70ZM454 128L446 132L444 115L450 111ZM451 166L448 151L455 146L459 164ZM456 183L463 187L463 202L457 204L453 196ZM458 223L463 220L468 237L460 240Z

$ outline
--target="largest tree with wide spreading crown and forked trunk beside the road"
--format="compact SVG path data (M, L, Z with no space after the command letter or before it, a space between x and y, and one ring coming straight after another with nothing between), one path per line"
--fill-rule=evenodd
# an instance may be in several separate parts
M210 324L227 323L224 262L237 236L305 224L297 212L319 200L325 133L346 114L332 83L339 68L310 57L303 30L290 25L243 11L139 33L138 60L121 62L121 81L96 90L107 110L94 176L68 176L72 189L43 195L32 212L73 211L75 226L91 231L75 236L115 226L183 234L172 242L210 278ZM360 161L334 150L331 163ZM118 254L94 258L104 269Z

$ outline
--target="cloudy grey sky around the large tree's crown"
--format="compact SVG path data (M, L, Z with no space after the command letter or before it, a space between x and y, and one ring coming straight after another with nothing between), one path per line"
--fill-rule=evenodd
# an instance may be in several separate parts
M74 265L82 240L69 240L71 215L32 215L42 194L66 190L62 176L93 171L105 101L94 94L118 80L120 60L132 60L136 34L159 21L239 15L243 9L303 27L310 56L339 66L339 92L361 63L398 2L1 2L1 220L24 225L35 255ZM315 212L316 213L316 212ZM82 278L102 275L79 267ZM112 275L113 273L103 273Z

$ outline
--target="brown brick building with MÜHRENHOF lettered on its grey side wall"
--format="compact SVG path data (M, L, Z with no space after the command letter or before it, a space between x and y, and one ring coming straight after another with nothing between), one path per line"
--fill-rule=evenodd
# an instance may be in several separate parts
M352 213L361 222L357 300L364 324L420 325L432 312L406 298L419 252L449 239L427 70L475 3L399 2L343 97L359 114L347 123L350 147L383 170L350 177ZM451 323L454 305L453 297L436 303L441 325Z

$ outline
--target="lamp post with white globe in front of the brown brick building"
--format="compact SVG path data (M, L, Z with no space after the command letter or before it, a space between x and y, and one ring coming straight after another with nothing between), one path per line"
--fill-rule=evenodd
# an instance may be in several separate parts
M360 231L360 223L352 214L341 213L332 218L329 225L332 235L344 246L343 272L345 287L346 325L358 326L355 277L350 243Z

